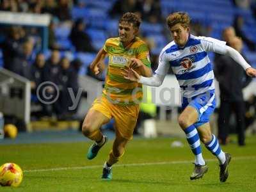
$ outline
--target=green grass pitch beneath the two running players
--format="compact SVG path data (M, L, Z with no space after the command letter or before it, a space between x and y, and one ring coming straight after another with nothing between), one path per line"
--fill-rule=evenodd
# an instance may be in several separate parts
M18 188L0 186L0 191L256 191L256 136L248 137L245 147L222 147L232 154L225 183L219 181L218 161L205 147L209 171L203 179L189 180L194 157L186 140L181 140L184 147L172 148L174 140L132 140L113 166L111 181L100 176L113 141L91 161L86 159L88 142L0 145L0 164L13 162L24 170Z

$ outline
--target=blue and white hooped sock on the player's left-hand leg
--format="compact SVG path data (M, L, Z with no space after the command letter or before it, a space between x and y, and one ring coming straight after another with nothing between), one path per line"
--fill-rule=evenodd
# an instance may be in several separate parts
M188 140L190 148L191 148L193 154L195 154L195 164L204 165L205 161L202 156L202 149L200 146L200 138L199 138L199 135L198 135L195 125L190 125L186 129L184 129L184 132L186 133L186 138Z

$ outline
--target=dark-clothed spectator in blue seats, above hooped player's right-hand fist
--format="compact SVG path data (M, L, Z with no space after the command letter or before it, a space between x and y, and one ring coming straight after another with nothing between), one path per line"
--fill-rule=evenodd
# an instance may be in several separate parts
M244 19L242 16L237 15L234 20L234 29L236 31L236 35L241 37L243 42L248 46L250 51L255 51L256 46L252 40L250 40L243 32L243 24L244 24Z

